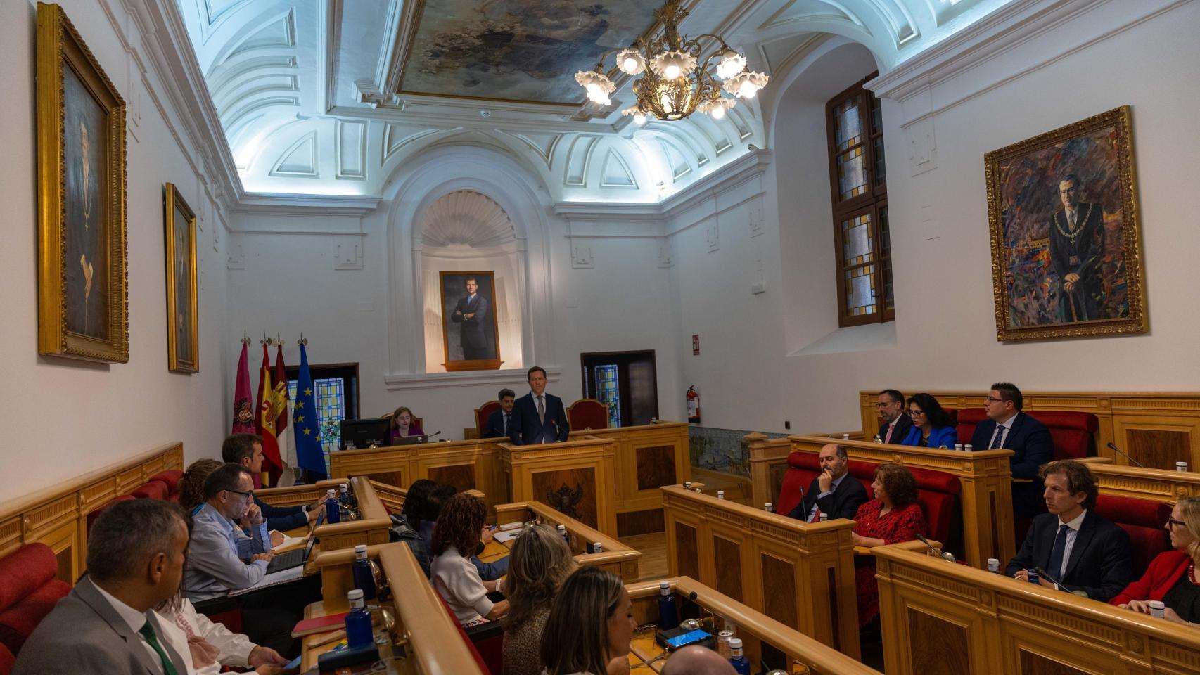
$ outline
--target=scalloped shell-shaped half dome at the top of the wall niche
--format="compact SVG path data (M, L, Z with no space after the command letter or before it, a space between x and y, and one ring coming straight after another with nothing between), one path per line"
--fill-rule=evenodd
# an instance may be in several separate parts
M460 189L425 212L421 241L438 248L491 248L516 241L512 221L490 197Z

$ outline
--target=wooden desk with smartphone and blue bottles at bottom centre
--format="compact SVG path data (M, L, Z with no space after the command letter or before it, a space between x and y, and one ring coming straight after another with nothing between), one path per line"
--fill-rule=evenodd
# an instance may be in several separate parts
M797 632L754 608L748 607L732 597L716 591L690 577L676 577L666 579L671 589L678 596L686 597L696 593L696 604L703 614L715 619L719 631L725 625L725 620L732 621L737 628L737 637L743 641L743 649L751 668L757 671L757 663L762 653L763 643L774 646L784 652L787 663L792 667L792 673L806 673L812 675L880 675L877 670L863 665L854 658L830 649L820 641ZM630 599L634 602L634 617L638 626L654 623L659 619L659 581L640 581L626 584ZM662 647L654 643L653 631L640 631L635 633L630 643L630 673L631 675L648 675L659 673L666 664L665 661L655 661L646 665L635 665L662 653Z

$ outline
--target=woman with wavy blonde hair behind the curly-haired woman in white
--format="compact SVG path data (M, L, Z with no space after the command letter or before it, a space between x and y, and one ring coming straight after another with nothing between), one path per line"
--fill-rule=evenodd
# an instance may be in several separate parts
M534 525L512 543L504 595L504 675L540 675L540 645L550 607L563 581L575 572L575 559L562 535Z

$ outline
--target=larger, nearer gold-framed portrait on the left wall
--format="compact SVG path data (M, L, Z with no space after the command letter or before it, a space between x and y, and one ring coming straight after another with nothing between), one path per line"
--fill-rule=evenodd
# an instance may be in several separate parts
M37 4L37 351L130 360L125 101L58 5Z

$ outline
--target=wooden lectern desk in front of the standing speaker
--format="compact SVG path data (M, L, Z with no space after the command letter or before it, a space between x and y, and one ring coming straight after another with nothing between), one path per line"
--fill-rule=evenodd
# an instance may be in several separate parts
M512 501L542 501L617 536L612 439L586 436L542 445L500 444L500 466Z

